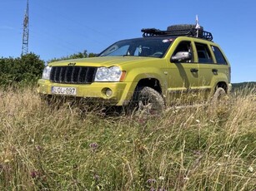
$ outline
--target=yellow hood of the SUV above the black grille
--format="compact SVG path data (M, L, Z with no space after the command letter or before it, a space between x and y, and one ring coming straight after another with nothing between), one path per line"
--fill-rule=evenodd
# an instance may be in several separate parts
M155 57L141 56L102 56L49 63L49 66L123 66L130 63L153 61Z

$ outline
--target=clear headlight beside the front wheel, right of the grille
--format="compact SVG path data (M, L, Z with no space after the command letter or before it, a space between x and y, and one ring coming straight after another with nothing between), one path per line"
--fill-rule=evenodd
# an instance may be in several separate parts
M94 81L120 81L122 73L118 66L99 67Z

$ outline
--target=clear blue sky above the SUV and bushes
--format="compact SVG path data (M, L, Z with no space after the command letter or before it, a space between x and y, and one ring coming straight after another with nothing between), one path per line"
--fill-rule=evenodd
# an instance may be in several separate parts
M26 6L27 0L0 0L0 57L21 56ZM198 15L228 57L231 81L256 81L255 7L255 0L29 0L28 51L43 61L99 53L142 37L142 28L195 24Z

